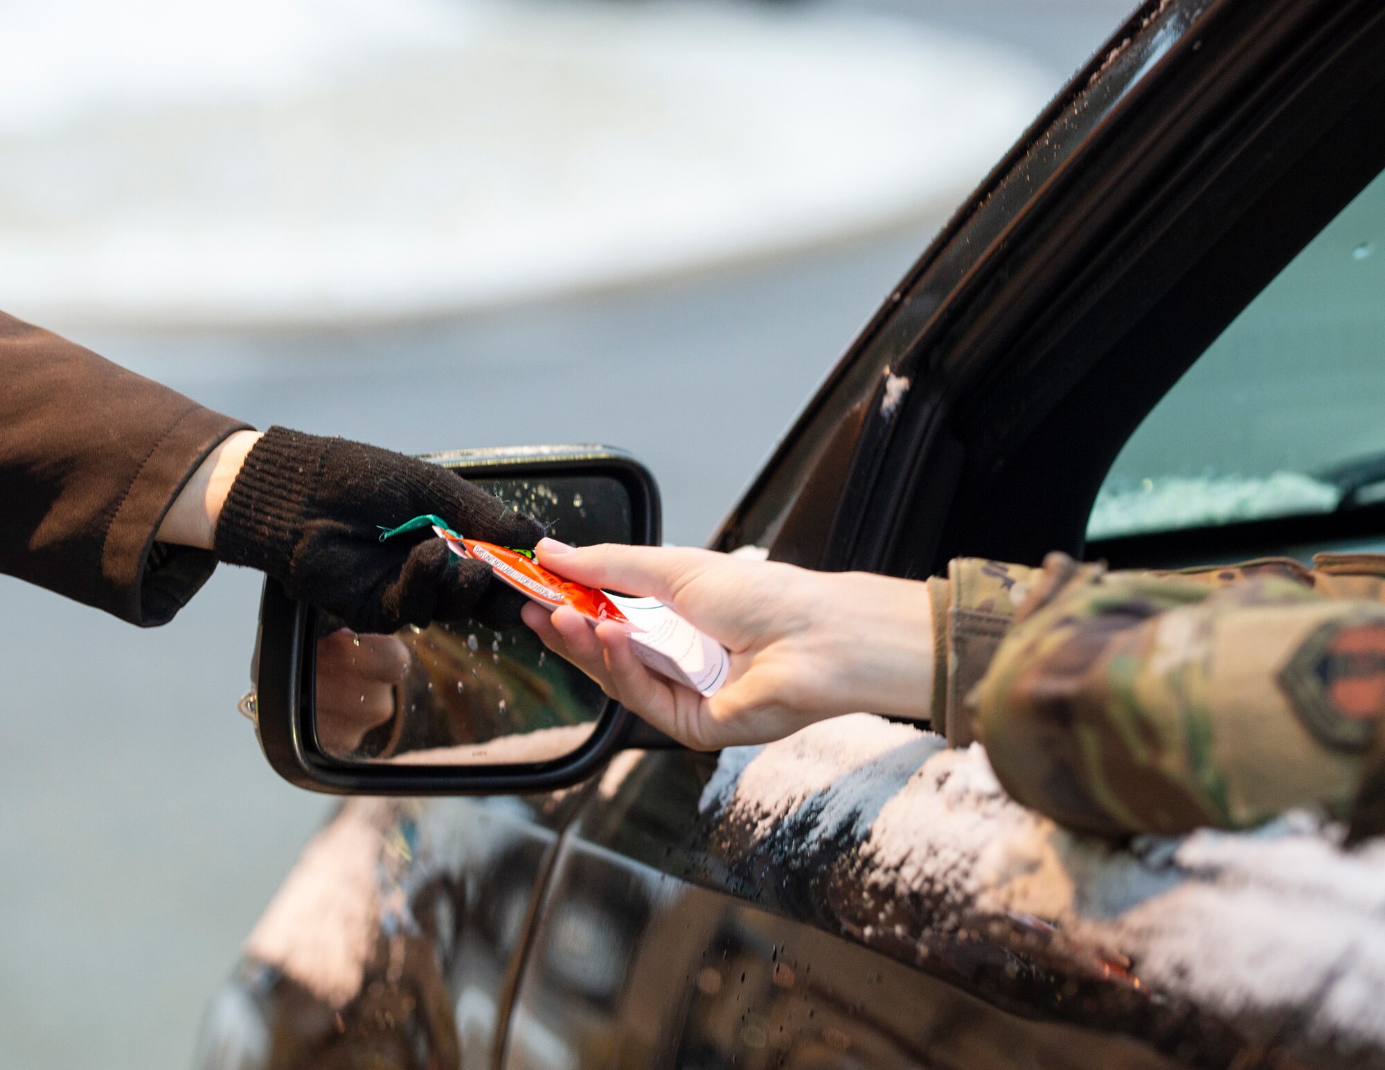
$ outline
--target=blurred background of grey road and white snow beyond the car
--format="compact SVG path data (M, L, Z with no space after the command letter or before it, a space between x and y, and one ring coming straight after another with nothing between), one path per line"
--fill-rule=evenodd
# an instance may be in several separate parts
M701 542L1127 6L0 0L0 309L262 427L622 445ZM0 578L0 1066L187 1064L330 805L234 711L258 588Z

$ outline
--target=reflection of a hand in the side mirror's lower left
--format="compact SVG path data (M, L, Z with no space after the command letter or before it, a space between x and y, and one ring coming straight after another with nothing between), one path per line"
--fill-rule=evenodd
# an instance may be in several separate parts
M317 640L317 740L346 758L371 729L395 715L395 685L409 672L409 647L392 635L338 628Z

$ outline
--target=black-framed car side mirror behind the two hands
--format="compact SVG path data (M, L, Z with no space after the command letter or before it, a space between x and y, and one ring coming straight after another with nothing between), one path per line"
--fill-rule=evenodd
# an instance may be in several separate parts
M658 545L659 489L605 446L435 453L573 545ZM550 654L528 628L475 621L360 636L266 581L249 704L269 764L338 794L548 791L616 750L674 746Z

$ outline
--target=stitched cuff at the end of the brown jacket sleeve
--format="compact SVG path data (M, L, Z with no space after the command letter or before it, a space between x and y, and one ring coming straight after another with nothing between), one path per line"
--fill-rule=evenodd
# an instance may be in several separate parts
M193 406L154 445L120 499L101 546L97 603L143 628L166 624L216 568L211 550L154 541L173 499L216 446L249 424Z

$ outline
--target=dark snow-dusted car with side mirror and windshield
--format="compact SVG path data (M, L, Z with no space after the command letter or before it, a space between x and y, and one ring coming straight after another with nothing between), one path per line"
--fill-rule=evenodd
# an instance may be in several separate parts
M1379 4L1151 0L885 298L712 547L921 578L1385 546L1382 169ZM551 496L576 541L658 542L652 477L616 452L435 459ZM562 480L625 489L579 516ZM467 629L403 636L442 674L416 699L490 672L569 735L488 757L439 715L413 753L452 765L388 740L370 754L397 761L334 761L313 620L267 588L260 733L349 797L213 997L204 1067L1385 1064L1385 848L1320 816L1079 837L1006 798L979 746L871 714L699 754Z

